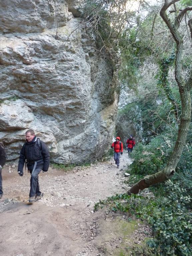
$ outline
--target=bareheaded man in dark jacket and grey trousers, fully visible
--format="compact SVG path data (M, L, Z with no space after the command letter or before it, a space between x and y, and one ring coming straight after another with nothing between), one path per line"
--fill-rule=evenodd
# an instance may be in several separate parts
M39 190L38 174L43 170L47 172L50 163L50 155L46 144L35 136L33 130L25 133L26 142L24 143L19 157L18 173L23 176L23 167L27 164L27 169L31 174L29 202L39 200L43 193Z

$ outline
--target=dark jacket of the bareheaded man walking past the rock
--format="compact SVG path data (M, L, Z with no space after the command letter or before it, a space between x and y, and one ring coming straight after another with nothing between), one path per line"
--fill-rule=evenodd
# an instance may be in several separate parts
M39 140L40 145L37 143L37 140ZM20 152L18 171L23 172L25 160L27 160L27 162L29 163L27 164L27 167L28 169L30 169L29 167L30 165L33 165L33 162L41 159L42 161L39 161L39 163L37 163L37 168L42 168L43 171L47 171L50 163L50 154L47 145L36 137L32 142L26 141Z

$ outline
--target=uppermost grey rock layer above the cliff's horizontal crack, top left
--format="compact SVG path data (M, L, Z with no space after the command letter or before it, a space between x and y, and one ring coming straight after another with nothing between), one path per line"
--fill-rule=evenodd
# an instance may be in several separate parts
M64 26L68 5L64 0L1 0L1 32L41 32Z

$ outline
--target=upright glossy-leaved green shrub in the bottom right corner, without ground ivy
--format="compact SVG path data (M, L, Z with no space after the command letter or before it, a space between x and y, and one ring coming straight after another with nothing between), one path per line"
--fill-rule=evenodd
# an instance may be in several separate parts
M192 213L186 208L191 197L178 184L166 184L168 196L149 217L154 238L147 244L156 255L192 255Z

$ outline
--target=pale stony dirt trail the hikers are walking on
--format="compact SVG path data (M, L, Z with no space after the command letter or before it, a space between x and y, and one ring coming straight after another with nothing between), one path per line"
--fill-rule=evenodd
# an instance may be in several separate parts
M118 247L120 241L110 230L111 220L105 211L93 212L93 208L99 199L125 193L124 172L130 163L124 152L119 169L114 161L75 167L67 173L50 168L48 173L39 175L44 197L34 204L27 204L30 175L20 177L16 167L5 166L4 196L0 199L0 254L113 255L113 247ZM104 250L103 244L109 242L111 249Z

